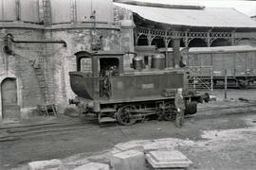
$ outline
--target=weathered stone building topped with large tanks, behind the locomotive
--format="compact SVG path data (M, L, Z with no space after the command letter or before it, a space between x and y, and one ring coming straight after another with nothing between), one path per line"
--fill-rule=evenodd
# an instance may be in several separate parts
M25 118L42 103L64 112L74 95L68 72L76 69L76 53L100 37L103 50L133 51L129 24L121 27L112 0L0 0L0 120ZM61 40L66 47L55 43Z

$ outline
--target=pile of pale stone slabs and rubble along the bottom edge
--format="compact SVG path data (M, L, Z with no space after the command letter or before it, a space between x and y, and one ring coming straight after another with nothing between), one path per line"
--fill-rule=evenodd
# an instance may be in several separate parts
M116 144L111 151L80 161L32 161L29 170L152 170L187 168L192 164L175 146L192 145L174 138Z

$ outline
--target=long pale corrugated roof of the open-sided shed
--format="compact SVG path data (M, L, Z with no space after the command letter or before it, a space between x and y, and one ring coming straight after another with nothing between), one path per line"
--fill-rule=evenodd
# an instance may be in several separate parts
M174 26L200 27L249 27L256 28L256 22L234 8L155 8L114 3L127 8L144 19Z

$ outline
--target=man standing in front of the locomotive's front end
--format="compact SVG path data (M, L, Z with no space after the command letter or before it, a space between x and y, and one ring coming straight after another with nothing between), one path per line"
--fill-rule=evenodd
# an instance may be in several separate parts
M177 92L175 94L174 104L177 110L175 124L176 124L176 127L180 128L184 123L184 111L185 111L185 102L182 96L181 88L177 89Z

